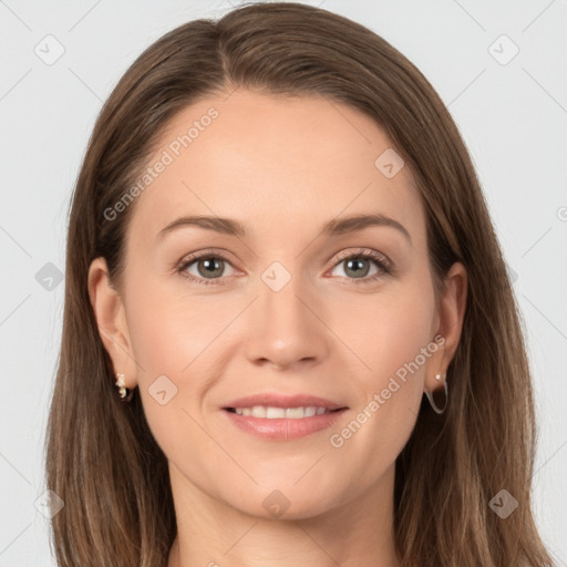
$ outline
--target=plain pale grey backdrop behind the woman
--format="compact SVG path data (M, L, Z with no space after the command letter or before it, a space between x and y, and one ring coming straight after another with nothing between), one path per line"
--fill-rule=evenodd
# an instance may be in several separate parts
M55 565L41 495L63 309L58 276L70 194L102 101L145 47L233 2L0 1L0 567ZM359 21L402 51L472 153L534 369L536 519L567 565L567 2L305 3ZM50 61L58 49L64 53Z

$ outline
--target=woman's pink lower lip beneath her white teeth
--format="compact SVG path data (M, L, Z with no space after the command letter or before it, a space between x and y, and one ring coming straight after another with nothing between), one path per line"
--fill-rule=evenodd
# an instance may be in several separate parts
M240 430L270 441L291 441L326 430L333 425L346 411L347 409L343 409L332 413L323 413L298 420L285 417L269 420L267 417L238 415L237 413L223 410L228 415L228 419Z

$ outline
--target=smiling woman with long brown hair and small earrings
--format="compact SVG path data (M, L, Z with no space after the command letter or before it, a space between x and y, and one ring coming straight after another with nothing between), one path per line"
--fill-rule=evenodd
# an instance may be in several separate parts
M167 33L99 116L68 243L61 566L551 565L480 183L382 38L295 3Z

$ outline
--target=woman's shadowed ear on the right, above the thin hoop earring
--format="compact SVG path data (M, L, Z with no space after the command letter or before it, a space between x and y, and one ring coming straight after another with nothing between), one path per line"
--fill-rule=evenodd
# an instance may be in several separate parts
M443 296L439 308L439 328L435 333L444 338L441 357L436 357L431 375L425 377L425 390L433 391L439 388L435 374L441 372L445 374L449 364L455 355L466 308L467 275L466 269L461 262L451 266L443 284Z

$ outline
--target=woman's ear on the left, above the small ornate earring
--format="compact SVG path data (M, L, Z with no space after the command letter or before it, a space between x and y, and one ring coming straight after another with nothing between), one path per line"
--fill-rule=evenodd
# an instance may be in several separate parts
M137 384L136 364L124 303L120 291L109 279L109 269L103 257L95 258L89 268L89 297L99 334L114 367L114 375L124 374L126 388L132 390Z

